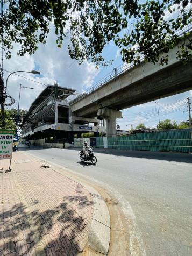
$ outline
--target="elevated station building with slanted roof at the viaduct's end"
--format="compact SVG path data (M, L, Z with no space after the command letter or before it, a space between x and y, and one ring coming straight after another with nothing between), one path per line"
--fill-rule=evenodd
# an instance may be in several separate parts
M21 137L72 142L74 134L105 133L104 122L96 118L78 117L70 109L68 97L74 89L47 86L31 104L22 124Z

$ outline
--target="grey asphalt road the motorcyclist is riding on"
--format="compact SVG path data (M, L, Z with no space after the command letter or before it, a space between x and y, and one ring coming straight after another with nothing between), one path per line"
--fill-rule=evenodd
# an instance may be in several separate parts
M192 154L95 149L97 165L77 150L20 148L114 190L131 213L145 255L192 255ZM126 205L129 207L126 208Z

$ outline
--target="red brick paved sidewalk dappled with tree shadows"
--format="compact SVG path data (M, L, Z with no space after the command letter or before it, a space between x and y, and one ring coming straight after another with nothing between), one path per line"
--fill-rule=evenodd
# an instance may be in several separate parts
M87 243L90 194L41 166L22 152L13 152L10 173L0 161L0 255L77 255Z

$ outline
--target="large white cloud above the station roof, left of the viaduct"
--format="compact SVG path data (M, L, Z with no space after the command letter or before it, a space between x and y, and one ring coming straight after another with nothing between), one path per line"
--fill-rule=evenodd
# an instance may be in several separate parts
M22 57L17 55L18 46L15 46L12 51L11 60L4 59L4 69L14 72L16 70L39 70L41 76L34 76L29 73L18 73L29 79L40 83L54 84L57 80L60 86L74 88L79 93L93 84L95 76L99 72L93 63L84 61L82 65L79 62L70 59L67 50L68 39L63 41L62 48L56 47L56 35L54 28L48 35L47 43L45 45L39 44L38 50L34 55L24 55ZM10 73L4 72L4 79ZM20 108L28 109L34 99L39 95L45 86L22 77L11 75L8 80L8 93L18 102L19 85L33 87L33 90L22 89L20 98Z

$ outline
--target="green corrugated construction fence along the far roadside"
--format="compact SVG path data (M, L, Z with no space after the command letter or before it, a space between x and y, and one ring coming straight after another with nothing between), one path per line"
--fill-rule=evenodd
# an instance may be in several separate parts
M97 137L97 147L103 148L103 138ZM119 150L192 152L192 129L137 133L108 137L107 148Z

